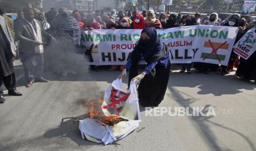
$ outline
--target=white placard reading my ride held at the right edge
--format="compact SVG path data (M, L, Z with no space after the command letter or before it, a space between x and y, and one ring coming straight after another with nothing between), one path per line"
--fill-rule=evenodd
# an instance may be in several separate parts
M235 44L234 52L243 59L248 59L256 50L256 28L252 28Z

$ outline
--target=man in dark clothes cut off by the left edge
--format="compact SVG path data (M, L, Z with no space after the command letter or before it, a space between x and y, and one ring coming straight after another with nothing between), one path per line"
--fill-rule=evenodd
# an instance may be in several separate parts
M8 89L8 94L21 96L16 90L16 79L13 68L13 59L16 55L15 44L6 20L0 15L0 103L4 103L3 84Z

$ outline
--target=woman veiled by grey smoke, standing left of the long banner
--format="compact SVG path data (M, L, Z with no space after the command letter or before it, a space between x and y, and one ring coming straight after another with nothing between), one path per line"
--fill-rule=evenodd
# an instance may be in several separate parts
M79 51L81 33L80 27L66 8L59 9L58 17L52 22L52 31L55 35L57 44L52 45L53 48L48 53L51 53L53 72L62 74L64 77L68 73L75 74L75 71L79 71L76 68L77 56L74 54ZM51 64L51 63L50 63Z

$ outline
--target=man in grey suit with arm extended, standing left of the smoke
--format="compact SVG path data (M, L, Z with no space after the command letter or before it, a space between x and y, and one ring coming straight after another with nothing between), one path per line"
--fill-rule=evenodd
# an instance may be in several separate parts
M41 24L34 19L34 11L31 8L24 8L23 13L24 19L15 22L15 34L20 41L19 52L27 80L26 87L30 87L34 79L37 82L49 82L42 77L44 64L42 36L56 39L41 29Z

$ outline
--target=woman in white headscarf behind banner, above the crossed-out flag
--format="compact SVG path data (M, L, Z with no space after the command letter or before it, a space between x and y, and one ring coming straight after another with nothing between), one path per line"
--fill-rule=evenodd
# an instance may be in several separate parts
M211 26L220 26L220 22L218 21L219 16L217 13L210 14L210 18L208 21L205 21L203 25L211 25ZM203 62L195 62L195 69L198 69L199 72L208 74L209 71L216 71L219 65L211 64L211 63L203 63Z

